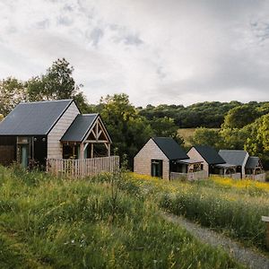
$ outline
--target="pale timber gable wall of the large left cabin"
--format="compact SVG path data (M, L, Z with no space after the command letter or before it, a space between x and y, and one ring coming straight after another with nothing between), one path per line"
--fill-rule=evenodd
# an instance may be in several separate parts
M48 134L48 159L49 158L56 158L61 159L63 158L63 147L60 143L60 139L65 134L68 127L74 121L74 118L80 114L79 109L76 107L75 103L69 106L66 109L63 116L58 120L56 125L52 128L52 130Z

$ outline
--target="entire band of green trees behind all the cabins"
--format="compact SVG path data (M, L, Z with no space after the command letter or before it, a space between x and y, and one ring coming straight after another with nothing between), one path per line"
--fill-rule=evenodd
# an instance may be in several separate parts
M107 95L90 104L76 84L74 67L57 59L46 74L20 81L0 81L0 114L5 117L21 101L74 99L82 113L100 113L113 140L113 149L132 165L136 152L151 136L170 136L184 146L178 128L197 128L193 144L246 149L269 163L269 102L202 102L191 106L147 105L135 108L125 93ZM1 118L0 118L1 120ZM220 128L208 129L208 128Z

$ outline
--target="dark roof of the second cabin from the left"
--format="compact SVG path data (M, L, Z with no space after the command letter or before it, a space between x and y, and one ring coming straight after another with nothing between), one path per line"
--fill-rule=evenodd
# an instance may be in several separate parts
M186 152L170 137L153 137L152 140L159 146L169 160L189 159Z

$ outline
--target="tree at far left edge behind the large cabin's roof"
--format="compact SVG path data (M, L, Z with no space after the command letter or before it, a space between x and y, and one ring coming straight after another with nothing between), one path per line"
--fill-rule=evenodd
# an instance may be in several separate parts
M27 100L24 82L13 77L0 81L0 114L4 117L21 101Z

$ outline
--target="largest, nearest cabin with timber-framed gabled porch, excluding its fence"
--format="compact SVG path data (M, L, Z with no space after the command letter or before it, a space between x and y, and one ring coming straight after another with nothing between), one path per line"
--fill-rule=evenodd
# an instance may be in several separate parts
M22 102L0 123L0 163L46 166L47 159L110 155L99 114L81 114L74 100Z

